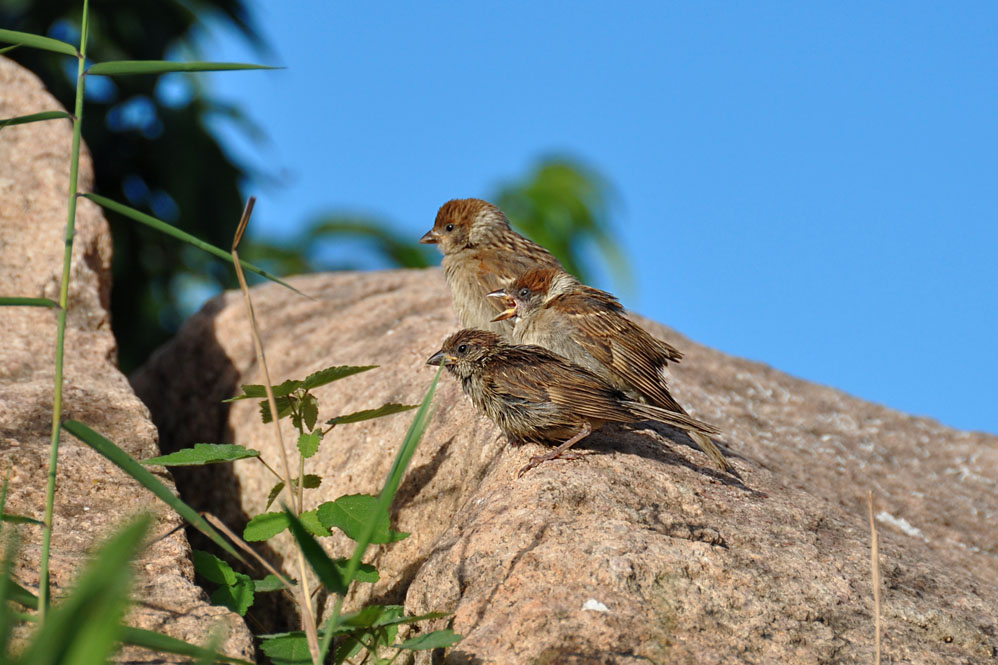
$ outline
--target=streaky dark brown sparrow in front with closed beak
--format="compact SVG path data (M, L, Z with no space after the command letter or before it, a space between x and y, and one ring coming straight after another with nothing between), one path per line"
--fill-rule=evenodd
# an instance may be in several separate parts
M517 475L548 460L579 457L566 451L608 422L656 420L716 432L686 414L628 400L598 375L547 349L507 344L485 330L454 333L426 364L444 364L475 407L511 440L560 444L530 458Z

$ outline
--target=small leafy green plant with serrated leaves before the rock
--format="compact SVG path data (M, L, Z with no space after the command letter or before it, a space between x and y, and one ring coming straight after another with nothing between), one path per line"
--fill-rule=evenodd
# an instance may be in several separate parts
M305 490L317 488L322 483L322 478L319 476L305 473L305 463L318 452L320 445L333 428L419 408L419 405L389 403L376 409L338 415L329 418L324 424L321 423L319 402L312 390L375 368L374 365L328 367L304 379L289 379L270 386L277 407L278 420L290 420L298 434L298 475L291 480L292 495L296 505L302 505L302 494ZM239 395L225 401L263 398L260 399L260 417L263 423L267 424L273 422L273 418L266 395L267 390L264 385L243 385ZM421 419L417 417L417 421L419 420ZM199 443L192 448L144 460L143 463L191 466L243 459L257 460L274 475L276 482L267 496L269 508L285 490L287 483L274 469L277 465L264 460L259 451L235 444ZM289 529L302 547L305 558L323 587L329 593L337 595L345 595L353 582L377 582L378 571L374 566L360 562L351 566L351 559L329 559L314 538L330 536L332 529L342 531L357 543L366 540L373 544L388 544L409 536L407 533L391 529L387 505L383 505L379 496L352 494L341 496L335 501L326 501L312 510L302 511L300 515L295 515L290 508L256 515L246 525L243 539L248 542L265 541ZM297 581L282 579L282 576L275 574L253 580L248 575L236 572L224 560L209 552L195 552L194 566L202 577L217 585L211 595L212 602L225 605L239 614L245 614L249 610L255 594L289 591L291 587L297 585ZM340 624L332 629L337 645L332 662L342 663L365 648L370 653L390 649L395 649L398 653L406 649L450 646L459 637L449 629L395 643L399 626L445 616L447 615L432 613L408 617L398 605L369 605L355 614L344 616ZM311 662L305 631L263 636L262 648L275 662Z

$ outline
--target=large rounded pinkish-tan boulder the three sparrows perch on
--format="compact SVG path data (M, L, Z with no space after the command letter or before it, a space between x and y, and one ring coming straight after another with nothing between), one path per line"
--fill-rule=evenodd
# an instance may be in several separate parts
M320 418L420 400L435 371L425 359L458 327L438 270L293 283L315 300L253 291L275 383L377 364L316 390ZM451 663L870 663L872 490L886 662L994 662L998 439L648 325L686 352L675 393L722 428L740 479L682 433L640 427L607 427L580 444L584 459L517 478L540 447L507 446L445 375L394 509L412 536L373 550L381 581L351 602L454 612L465 637ZM255 401L220 402L262 382L239 294L211 301L133 379L164 448L235 441L276 463ZM306 507L377 492L410 421L333 430L309 461L324 480ZM211 473L185 490L202 507L235 522L264 511L274 479L262 465ZM324 542L349 552L342 537ZM289 551L281 537L270 554L294 574Z

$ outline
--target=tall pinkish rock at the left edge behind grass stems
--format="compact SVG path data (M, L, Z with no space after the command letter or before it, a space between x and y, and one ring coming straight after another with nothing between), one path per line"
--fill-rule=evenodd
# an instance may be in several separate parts
M0 57L0 118L59 108L31 73ZM2 295L58 301L65 248L66 195L72 126L65 120L0 132L0 283ZM80 189L92 186L89 156ZM158 454L156 430L142 402L115 366L108 297L111 236L97 206L80 200L69 291L63 415L87 423L131 455ZM42 519L52 427L56 312L37 307L0 310L0 465L10 472L7 512ZM161 479L172 485L163 474ZM141 628L203 643L212 626L228 633L224 650L252 657L242 620L208 605L193 583L190 547L179 517L117 467L63 433L51 550L54 598L72 586L93 549L142 511L156 520L136 566L137 601L129 621ZM10 525L5 526L5 530ZM41 530L19 529L18 581L37 592ZM186 662L129 649L124 662Z

